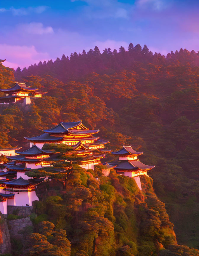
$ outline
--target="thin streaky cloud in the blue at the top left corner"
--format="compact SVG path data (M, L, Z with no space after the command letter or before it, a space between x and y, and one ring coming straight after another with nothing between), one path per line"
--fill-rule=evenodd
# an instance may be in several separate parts
M15 16L21 16L21 15L29 15L31 13L37 13L40 14L42 12L44 12L46 9L48 9L48 6L45 5L41 5L41 6L37 6L37 7L28 7L28 8L14 8L14 7L10 7L9 9L5 9L5 8L1 8L0 12L12 12L13 15Z

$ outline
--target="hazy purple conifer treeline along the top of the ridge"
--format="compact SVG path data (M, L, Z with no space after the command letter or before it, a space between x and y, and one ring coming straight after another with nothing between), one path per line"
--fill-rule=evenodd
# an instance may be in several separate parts
M134 46L129 44L128 50L120 47L119 51L116 49L111 51L106 48L100 53L99 48L96 46L90 49L87 53L85 50L82 53L71 53L70 58L62 55L61 59L57 58L54 62L40 61L38 65L34 64L28 68L17 68L15 72L16 79L21 79L22 76L42 75L43 73L52 75L63 82L71 79L77 79L85 76L91 72L100 74L112 73L123 69L131 70L137 65L137 62L144 64L152 63L154 65L199 65L199 51L188 51L187 49L176 50L174 53L168 53L166 56L155 52L154 54L149 51L148 47L144 45L142 48L140 44Z

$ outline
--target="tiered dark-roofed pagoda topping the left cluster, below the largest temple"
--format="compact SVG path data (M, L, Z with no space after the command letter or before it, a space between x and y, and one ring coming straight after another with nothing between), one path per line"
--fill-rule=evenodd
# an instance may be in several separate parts
M16 172L17 179L19 177L26 178L25 172L31 169L41 169L50 166L56 161L63 161L62 159L56 159L54 157L56 154L53 151L44 151L36 145L25 151L16 151L16 153L16 156L6 156L11 162L4 164L4 167L11 172Z

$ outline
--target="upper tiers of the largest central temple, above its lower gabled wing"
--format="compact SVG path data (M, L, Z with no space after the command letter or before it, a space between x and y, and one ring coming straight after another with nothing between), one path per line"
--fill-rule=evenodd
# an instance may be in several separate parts
M43 130L43 134L36 137L25 137L30 141L31 145L37 145L42 148L45 143L64 143L65 145L75 146L77 143L85 145L86 149L102 149L105 144L109 143L106 140L100 140L100 137L93 136L99 130L89 130L82 121L64 123L60 122L55 127Z

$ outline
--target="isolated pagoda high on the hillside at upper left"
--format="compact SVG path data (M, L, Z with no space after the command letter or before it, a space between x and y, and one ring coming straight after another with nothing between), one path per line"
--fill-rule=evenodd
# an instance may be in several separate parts
M24 105L31 103L31 98L41 98L47 92L40 92L38 88L32 88L25 83L15 81L11 88L0 89L0 92L6 93L5 97L0 97L0 104L22 102Z

